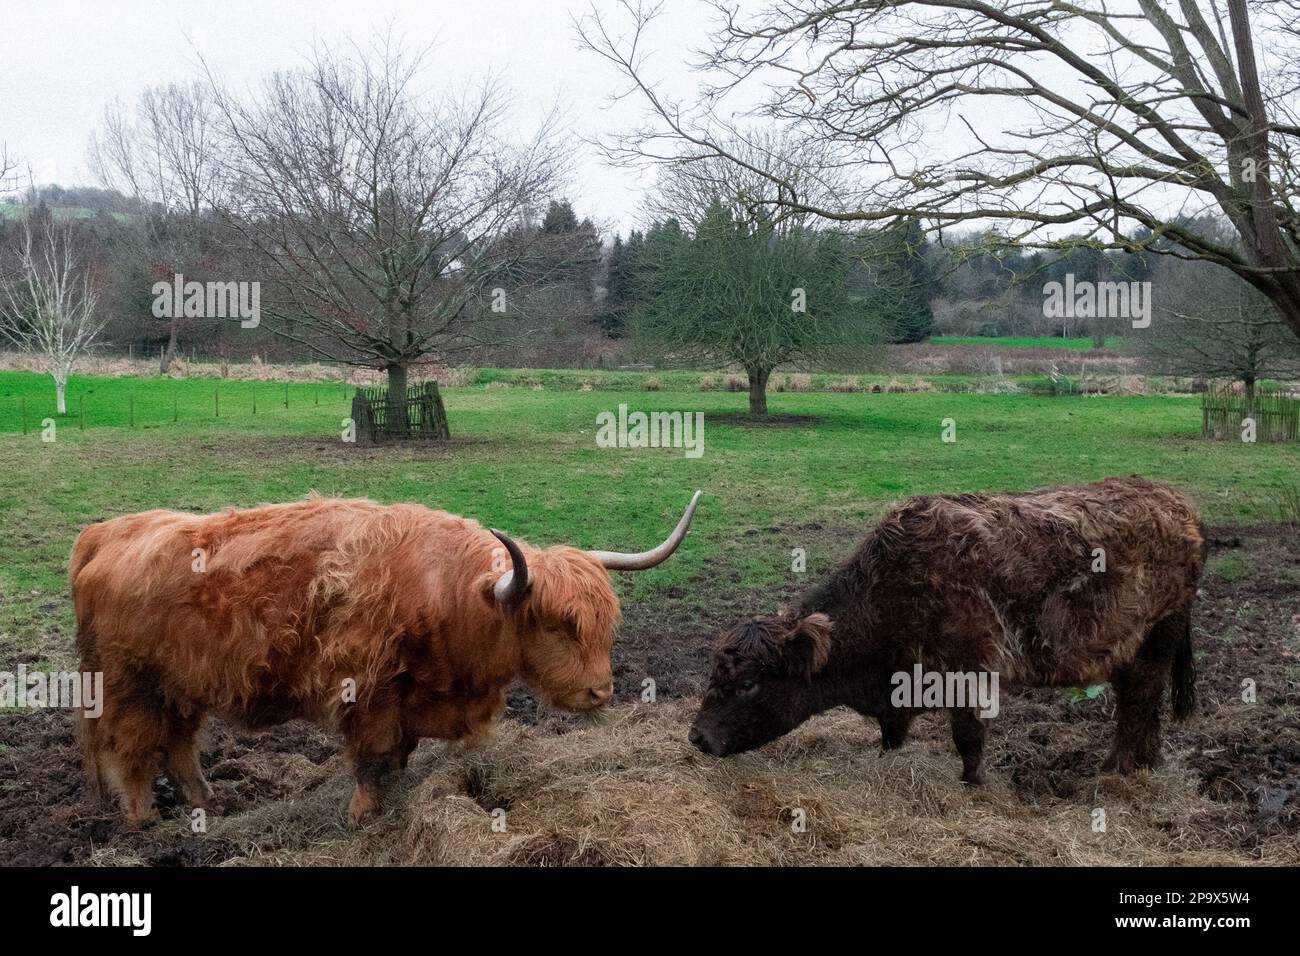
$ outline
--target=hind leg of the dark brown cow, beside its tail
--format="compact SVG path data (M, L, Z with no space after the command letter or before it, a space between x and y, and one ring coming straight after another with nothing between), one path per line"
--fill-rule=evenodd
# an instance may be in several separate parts
M1115 743L1101 765L1104 771L1128 774L1139 767L1160 766L1160 705L1165 682L1179 643L1186 637L1186 619L1173 614L1147 635L1132 663L1117 670Z

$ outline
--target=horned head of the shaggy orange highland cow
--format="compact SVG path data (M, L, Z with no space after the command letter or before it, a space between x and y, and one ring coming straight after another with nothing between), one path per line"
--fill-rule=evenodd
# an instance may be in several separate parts
M511 568L491 585L491 598L516 622L524 680L549 704L592 710L614 696L610 649L619 598L610 571L642 571L677 550L696 514L699 492L658 548L637 554L547 548L524 551L499 531Z

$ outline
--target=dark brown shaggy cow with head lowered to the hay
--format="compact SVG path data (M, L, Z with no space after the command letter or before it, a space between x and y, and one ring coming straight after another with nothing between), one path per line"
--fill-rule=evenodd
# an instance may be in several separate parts
M894 675L919 663L1008 684L1109 680L1118 727L1104 769L1154 766L1166 676L1175 717L1192 710L1204 564L1191 501L1140 477L913 498L793 610L722 640L690 741L738 753L845 705L875 717L893 749L915 715L893 705ZM980 783L987 723L974 706L949 709L962 779Z

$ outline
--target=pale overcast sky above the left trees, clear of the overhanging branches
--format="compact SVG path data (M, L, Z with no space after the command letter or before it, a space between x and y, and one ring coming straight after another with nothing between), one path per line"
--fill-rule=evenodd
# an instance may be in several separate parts
M571 21L588 9L588 0L4 0L0 142L39 183L98 185L86 147L105 104L195 77L195 48L242 87L300 65L316 42L364 42L390 26L411 49L433 44L432 82L499 77L525 127L556 99L578 134L634 125L641 103L611 108L614 68L578 49ZM670 91L694 88L685 64L703 46L710 13L698 0L664 4L651 68ZM586 151L568 191L580 216L625 232L646 181Z

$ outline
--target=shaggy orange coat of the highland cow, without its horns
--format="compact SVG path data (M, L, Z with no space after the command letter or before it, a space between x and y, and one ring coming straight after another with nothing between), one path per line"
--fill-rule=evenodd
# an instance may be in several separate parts
M161 762L205 806L196 736L207 713L339 730L356 766L355 822L420 737L482 737L523 678L582 710L612 687L618 598L573 548L519 542L532 589L504 607L510 559L473 520L419 505L312 496L216 515L147 511L86 528L70 579L82 670L104 711L82 721L92 793L155 816Z

